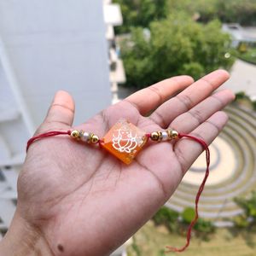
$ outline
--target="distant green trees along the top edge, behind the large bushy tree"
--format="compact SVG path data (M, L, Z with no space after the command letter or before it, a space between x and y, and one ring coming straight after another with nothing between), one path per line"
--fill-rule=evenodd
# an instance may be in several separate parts
M148 27L154 20L165 19L179 11L197 17L202 22L213 19L222 22L256 25L255 0L114 0L119 3L124 25L116 32L130 32L133 26Z

